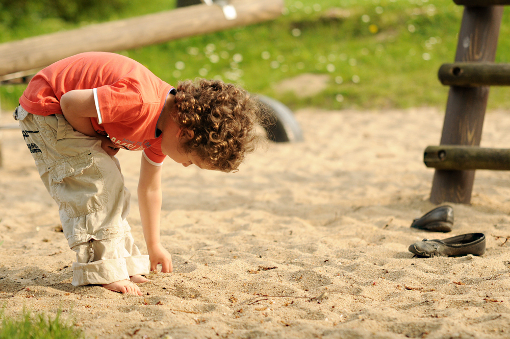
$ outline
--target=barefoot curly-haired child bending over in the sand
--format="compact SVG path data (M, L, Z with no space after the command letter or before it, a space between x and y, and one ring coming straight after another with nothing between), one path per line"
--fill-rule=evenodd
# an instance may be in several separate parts
M136 283L147 281L149 270L162 264L162 272L172 272L160 243L163 160L237 170L256 146L258 103L222 81L174 88L114 53L82 53L38 72L14 118L76 252L72 284L142 295ZM119 149L142 151L138 201L148 256L126 221L130 193L115 157Z

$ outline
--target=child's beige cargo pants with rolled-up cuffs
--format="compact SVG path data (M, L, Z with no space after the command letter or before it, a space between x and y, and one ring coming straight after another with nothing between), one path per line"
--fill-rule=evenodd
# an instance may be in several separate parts
M69 247L76 252L72 284L109 284L148 274L126 221L130 192L116 157L100 140L74 131L62 114L14 111L46 189L59 206Z

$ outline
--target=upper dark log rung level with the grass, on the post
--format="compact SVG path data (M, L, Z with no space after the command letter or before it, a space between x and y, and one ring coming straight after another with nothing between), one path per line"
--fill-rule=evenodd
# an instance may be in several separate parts
M448 63L439 68L438 78L443 85L449 86L508 86L510 64Z

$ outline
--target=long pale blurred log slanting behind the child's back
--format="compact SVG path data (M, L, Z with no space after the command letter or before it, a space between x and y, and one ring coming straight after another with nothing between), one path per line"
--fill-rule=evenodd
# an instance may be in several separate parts
M82 52L129 50L271 20L283 10L283 0L232 4L237 11L234 20L225 19L219 6L195 5L6 42L0 44L0 76L45 67Z

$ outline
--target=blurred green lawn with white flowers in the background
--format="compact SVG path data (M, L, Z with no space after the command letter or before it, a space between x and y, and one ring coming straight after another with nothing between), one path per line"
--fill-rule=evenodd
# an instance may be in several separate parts
M106 20L168 10L174 2L132 0ZM336 12L337 15L330 15ZM291 109L385 109L446 105L448 87L439 66L452 62L463 7L451 0L286 0L275 20L176 41L119 51L170 84L202 76L239 83ZM30 25L0 25L0 42L71 29L37 18ZM505 9L497 62L510 62L510 12ZM280 92L278 82L303 73L326 74L325 90L310 98ZM3 108L13 108L24 86L0 88ZM489 108L510 108L505 88L492 88Z

